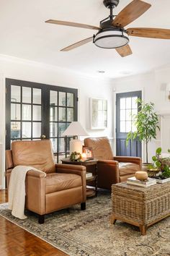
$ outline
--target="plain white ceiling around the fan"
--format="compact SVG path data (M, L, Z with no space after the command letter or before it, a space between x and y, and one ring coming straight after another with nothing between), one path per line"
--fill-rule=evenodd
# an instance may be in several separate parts
M120 0L114 14L130 1ZM170 29L170 1L146 1L152 4L151 9L128 27ZM45 23L45 20L54 19L99 26L99 21L108 15L109 10L102 0L1 0L0 54L104 77L137 74L170 63L170 40L131 37L133 55L125 58L114 49L98 48L93 43L61 52L61 48L97 31ZM98 70L104 70L105 74L98 74Z

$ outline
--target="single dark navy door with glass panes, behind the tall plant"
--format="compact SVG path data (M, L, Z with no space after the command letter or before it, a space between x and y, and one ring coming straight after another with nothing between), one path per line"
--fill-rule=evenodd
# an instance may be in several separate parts
M138 114L136 100L142 97L141 91L117 93L116 95L116 155L141 157L141 142L130 141L126 146L128 132L135 131L133 114Z

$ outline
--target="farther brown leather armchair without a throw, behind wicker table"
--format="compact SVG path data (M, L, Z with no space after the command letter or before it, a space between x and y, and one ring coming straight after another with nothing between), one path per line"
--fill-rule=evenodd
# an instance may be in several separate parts
M97 186L111 189L112 184L125 182L141 169L141 158L113 156L107 137L86 138L85 147L91 147L97 162Z

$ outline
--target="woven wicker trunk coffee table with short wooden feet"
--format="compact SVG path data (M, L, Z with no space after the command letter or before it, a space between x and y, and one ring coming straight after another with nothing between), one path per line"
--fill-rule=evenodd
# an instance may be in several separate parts
M151 187L137 187L125 182L112 185L112 223L125 221L138 226L145 235L148 226L168 216L170 182Z

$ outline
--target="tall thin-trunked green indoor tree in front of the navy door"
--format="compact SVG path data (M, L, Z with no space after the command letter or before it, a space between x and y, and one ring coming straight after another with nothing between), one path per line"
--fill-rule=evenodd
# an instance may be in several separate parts
M154 111L153 103L144 103L141 99L137 100L140 111L133 115L135 132L129 132L126 142L136 138L146 145L146 164L148 165L148 142L153 138L156 139L156 129L158 126L158 114ZM145 163L144 163L145 164Z

